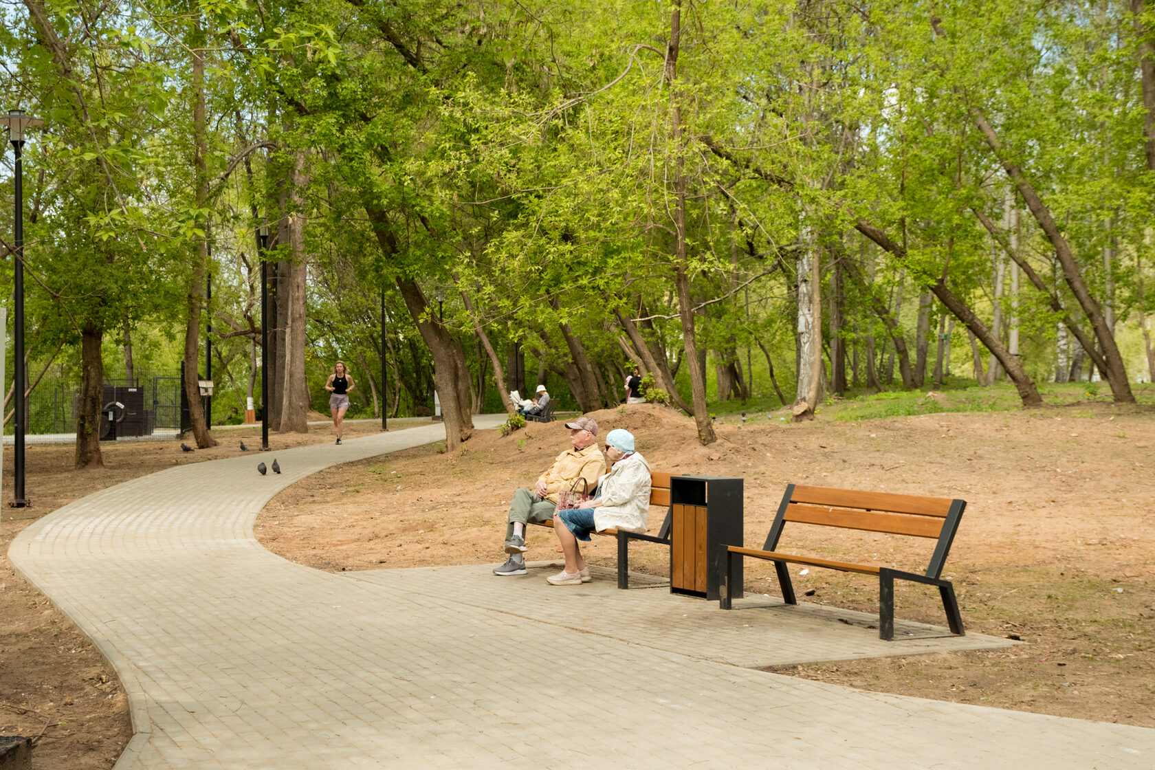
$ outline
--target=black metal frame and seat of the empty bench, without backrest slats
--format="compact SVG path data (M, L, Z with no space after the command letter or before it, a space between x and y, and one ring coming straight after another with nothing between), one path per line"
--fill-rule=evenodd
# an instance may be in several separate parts
M963 636L966 634L962 626L962 615L959 613L959 601L954 595L954 585L951 581L944 580L941 576L947 554L951 552L951 545L954 543L954 536L959 529L959 522L962 518L963 510L967 508L966 500L955 499L951 501L949 509L942 519L942 528L934 546L934 553L931 555L930 565L926 567L926 573L918 574L893 569L891 567L875 568L866 565L845 565L829 562L824 559L796 556L795 554L789 553L775 553L774 550L778 545L778 539L782 537L782 529L785 525L787 507L793 498L795 487L796 485L793 484L787 485L787 491L782 495L782 502L778 504L778 513L774 518L774 524L770 525L770 531L766 536L766 544L762 546L761 551L743 548L740 546L726 547L721 567L722 598L718 601L718 606L722 610L731 608L731 598L728 588L731 584L731 581L737 581L742 575L742 558L753 556L755 559L765 559L774 562L774 570L778 576L778 586L782 590L782 600L787 604L795 605L798 604L798 599L795 596L793 583L790 580L790 569L787 567L788 563L804 563L811 567L826 567L828 569L855 571L865 575L873 575L877 573L879 580L878 635L879 638L887 642L894 640L894 581L904 580L912 583L934 585L938 588L939 595L942 598L942 608L946 612L951 633L957 636Z

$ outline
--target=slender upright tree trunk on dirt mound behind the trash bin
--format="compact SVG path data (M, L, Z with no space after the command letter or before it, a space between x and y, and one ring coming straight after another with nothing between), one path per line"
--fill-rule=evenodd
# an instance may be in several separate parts
M670 140L673 159L673 231L675 284L678 290L678 316L681 319L681 342L690 364L690 391L694 402L698 440L703 444L717 441L709 409L706 405L706 376L698 365L698 338L694 334L694 306L690 301L688 260L686 256L686 147L681 136L681 105L678 98L678 46L681 42L681 0L672 0L670 43L665 52L665 81L670 87Z

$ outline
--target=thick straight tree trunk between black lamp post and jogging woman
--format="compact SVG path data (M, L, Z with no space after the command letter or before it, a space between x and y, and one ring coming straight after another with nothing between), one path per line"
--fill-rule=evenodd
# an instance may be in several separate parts
M305 376L305 330L306 298L305 285L308 275L308 260L305 256L305 200L303 190L307 184L305 174L305 154L297 151L293 156L293 170L290 185L290 214L286 217L289 229L289 252L291 259L285 263L285 282L278 299L284 299L284 366L281 371L283 386L281 388L281 419L277 431L281 433L308 433L308 380Z

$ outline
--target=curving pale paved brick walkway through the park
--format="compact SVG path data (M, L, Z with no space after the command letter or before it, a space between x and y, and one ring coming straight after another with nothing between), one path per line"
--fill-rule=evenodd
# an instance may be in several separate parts
M16 538L13 563L129 694L137 732L119 770L1155 767L1153 730L743 667L805 656L832 630L872 653L875 631L808 621L817 610L722 613L661 589L617 592L608 576L554 589L478 566L334 575L253 538L289 484L441 431L286 450L282 476L258 476L254 456L177 466ZM822 633L767 642L805 622ZM899 644L929 644L919 634Z

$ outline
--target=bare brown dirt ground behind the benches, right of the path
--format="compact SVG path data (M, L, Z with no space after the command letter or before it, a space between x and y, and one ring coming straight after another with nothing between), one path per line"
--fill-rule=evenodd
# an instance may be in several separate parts
M788 481L968 501L946 576L971 631L1021 638L993 652L790 667L872 690L1155 727L1155 412L1075 404L1031 412L951 413L789 425L759 416L718 426L654 405L596 412L601 435L625 427L655 470L745 478L745 537L761 545ZM513 491L567 446L561 423L501 438L478 432L457 451L407 450L330 469L284 491L258 517L259 539L326 570L498 563ZM655 511L656 513L656 511ZM651 529L661 523L655 516ZM783 545L815 555L925 569L929 541L799 525ZM529 528L529 556L559 555ZM636 546L635 546L636 547ZM614 563L612 540L595 563ZM661 546L631 565L668 574ZM878 584L829 570L796 575L808 601L878 612ZM769 562L747 586L776 596ZM493 580L501 580L494 577ZM747 589L751 590L751 589ZM900 618L944 625L937 592L896 586Z

